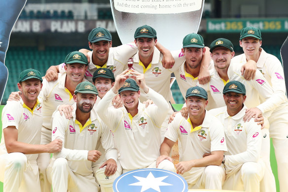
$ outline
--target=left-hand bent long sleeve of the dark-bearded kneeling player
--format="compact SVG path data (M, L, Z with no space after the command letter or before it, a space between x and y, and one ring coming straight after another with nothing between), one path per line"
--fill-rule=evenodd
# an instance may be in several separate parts
M72 119L70 119L72 120ZM60 139L63 142L63 147L61 152L54 153L54 158L64 157L67 160L71 161L84 161L88 160L88 151L87 150L71 150L64 148L65 146L65 135L69 125L69 119L63 115L60 115L60 112L57 112L53 119L52 124L52 141L55 139Z

